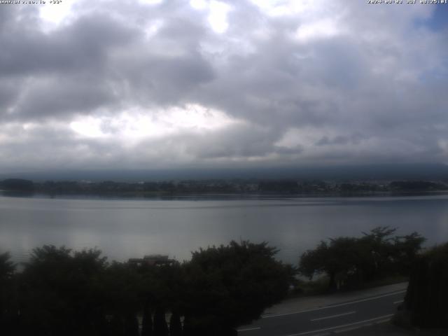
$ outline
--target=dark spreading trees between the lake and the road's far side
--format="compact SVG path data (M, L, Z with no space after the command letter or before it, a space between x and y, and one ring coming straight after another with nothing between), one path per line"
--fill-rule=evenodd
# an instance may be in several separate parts
M384 276L409 275L426 239L417 232L394 236L395 231L379 227L360 238L321 241L314 250L302 254L300 273L309 278L326 274L330 290L340 286L358 287Z

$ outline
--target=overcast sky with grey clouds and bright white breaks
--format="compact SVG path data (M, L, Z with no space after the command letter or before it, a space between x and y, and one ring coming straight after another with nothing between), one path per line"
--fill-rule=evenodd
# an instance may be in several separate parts
M0 4L2 173L448 163L448 5L48 2Z

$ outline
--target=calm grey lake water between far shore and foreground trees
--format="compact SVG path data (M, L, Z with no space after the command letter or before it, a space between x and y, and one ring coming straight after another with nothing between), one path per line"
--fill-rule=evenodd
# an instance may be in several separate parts
M318 241L379 225L448 241L448 195L265 200L82 200L0 196L0 251L26 260L43 244L97 246L113 260L190 252L230 240L269 241L297 263Z

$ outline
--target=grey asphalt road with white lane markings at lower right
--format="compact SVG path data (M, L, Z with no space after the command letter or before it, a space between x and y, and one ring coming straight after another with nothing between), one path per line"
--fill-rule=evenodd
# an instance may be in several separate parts
M265 315L255 323L239 328L238 335L316 336L381 323L391 319L405 293L405 290L398 290L316 309Z

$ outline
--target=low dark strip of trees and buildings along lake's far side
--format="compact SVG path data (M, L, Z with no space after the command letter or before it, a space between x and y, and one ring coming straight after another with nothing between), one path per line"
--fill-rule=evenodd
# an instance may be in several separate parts
M114 196L162 195L381 195L396 193L426 193L448 190L442 181L351 181L337 183L323 180L297 179L211 179L183 181L45 181L24 179L0 181L6 191L35 191L48 195L89 194Z

